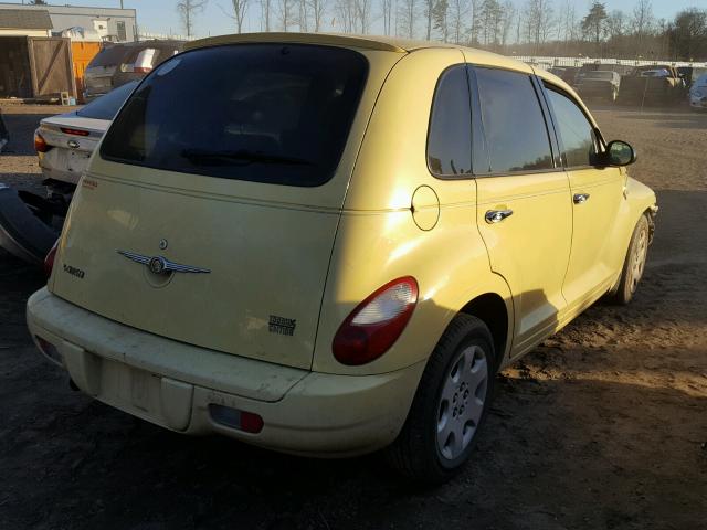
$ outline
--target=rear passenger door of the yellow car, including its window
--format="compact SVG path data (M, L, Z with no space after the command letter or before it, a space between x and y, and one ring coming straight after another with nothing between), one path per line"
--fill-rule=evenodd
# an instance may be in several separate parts
M477 226L490 268L513 293L511 356L557 329L570 253L569 180L552 150L540 86L529 72L472 68L485 159L474 158ZM476 149L475 149L476 151Z

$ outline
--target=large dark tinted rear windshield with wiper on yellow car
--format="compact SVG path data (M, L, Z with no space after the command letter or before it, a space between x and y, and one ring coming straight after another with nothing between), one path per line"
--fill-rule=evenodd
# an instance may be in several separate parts
M140 84L101 156L203 177L319 186L338 166L367 75L366 57L338 47L187 52Z

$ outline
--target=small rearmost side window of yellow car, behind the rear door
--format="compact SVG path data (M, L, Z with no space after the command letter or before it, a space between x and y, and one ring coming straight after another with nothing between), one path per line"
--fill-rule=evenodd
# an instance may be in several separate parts
M472 114L466 66L442 74L434 92L428 166L437 177L472 171Z

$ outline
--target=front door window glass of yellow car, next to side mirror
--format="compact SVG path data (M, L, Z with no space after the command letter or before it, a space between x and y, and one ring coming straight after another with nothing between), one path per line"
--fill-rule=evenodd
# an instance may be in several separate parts
M555 112L562 142L562 158L568 168L592 166L594 160L594 129L581 108L568 96L552 88L547 91Z

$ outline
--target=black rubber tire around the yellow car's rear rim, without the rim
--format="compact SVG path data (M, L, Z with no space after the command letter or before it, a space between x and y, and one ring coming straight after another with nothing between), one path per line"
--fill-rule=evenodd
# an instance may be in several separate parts
M447 459L442 454L444 448L440 449L437 443L442 391L447 378L452 375L452 369L457 365L460 356L469 351L469 347L474 347L474 356L482 356L483 352L487 363L483 410L473 428L471 442L467 442L468 445L457 457ZM402 431L386 451L389 464L405 477L423 484L440 484L457 473L468 459L478 431L485 423L493 396L495 373L496 354L488 327L476 317L457 315L442 335L428 361ZM478 388L481 389L481 384ZM454 395L456 399L456 393ZM454 410L456 411L456 407Z

